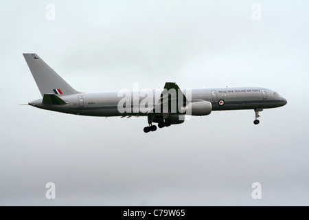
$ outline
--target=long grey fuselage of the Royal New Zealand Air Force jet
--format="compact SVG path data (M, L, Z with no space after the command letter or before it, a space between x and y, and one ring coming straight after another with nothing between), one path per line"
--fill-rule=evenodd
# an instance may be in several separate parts
M211 111L240 110L240 109L270 109L282 107L286 104L286 99L271 89L260 87L237 87L237 88L216 88L216 89L190 89L192 100L205 100L211 102ZM149 109L159 99L162 90L152 90L153 102L148 103ZM187 94L187 89L183 89ZM137 94L137 95L136 95ZM29 102L30 105L40 109L60 111L76 115L89 116L130 116L147 115L142 111L136 111L138 107L133 100L138 99L138 103L145 97L141 97L140 92L131 92L132 108L135 111L120 113L117 109L118 103L124 98L119 97L118 92L103 93L81 93L73 95L60 95L67 104L45 104L42 99ZM147 106L146 106L147 107Z

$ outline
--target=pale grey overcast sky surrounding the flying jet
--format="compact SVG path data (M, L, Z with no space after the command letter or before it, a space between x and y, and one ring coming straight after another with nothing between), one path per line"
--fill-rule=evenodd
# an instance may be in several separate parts
M47 20L48 3L56 8ZM262 20L253 20L260 4ZM0 0L0 205L309 206L308 1ZM22 53L85 92L257 86L278 109L147 118L44 111ZM45 184L56 184L56 199ZM262 199L251 184L262 184Z

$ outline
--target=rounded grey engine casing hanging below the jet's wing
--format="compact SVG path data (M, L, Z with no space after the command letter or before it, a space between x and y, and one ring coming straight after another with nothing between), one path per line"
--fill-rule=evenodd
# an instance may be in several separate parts
M207 102L204 100L190 102L185 107L185 111L187 115L194 115L194 116L203 116L209 115L212 110L211 102Z

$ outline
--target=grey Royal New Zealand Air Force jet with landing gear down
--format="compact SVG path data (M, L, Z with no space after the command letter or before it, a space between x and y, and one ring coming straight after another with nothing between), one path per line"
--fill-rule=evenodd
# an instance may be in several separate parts
M180 89L165 83L163 89L84 93L73 89L37 54L23 54L43 98L28 104L39 109L74 115L112 117L147 116L144 132L156 131L185 121L184 115L203 116L211 111L253 109L254 124L260 111L284 106L287 101L276 91L263 87ZM141 94L147 96L141 96ZM136 96L137 94L137 96ZM148 102L146 102L148 98ZM142 106L142 107L141 107Z

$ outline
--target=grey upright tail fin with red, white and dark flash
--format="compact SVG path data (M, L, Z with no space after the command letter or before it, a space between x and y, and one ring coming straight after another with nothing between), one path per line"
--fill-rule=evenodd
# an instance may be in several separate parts
M36 54L23 54L42 96L79 94Z

